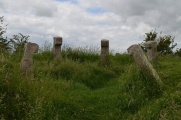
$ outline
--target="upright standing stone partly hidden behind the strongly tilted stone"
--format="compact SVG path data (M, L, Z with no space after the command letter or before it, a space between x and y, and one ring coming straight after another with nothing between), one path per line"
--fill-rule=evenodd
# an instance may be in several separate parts
M145 47L147 49L148 61L158 63L157 42L148 41L145 43Z

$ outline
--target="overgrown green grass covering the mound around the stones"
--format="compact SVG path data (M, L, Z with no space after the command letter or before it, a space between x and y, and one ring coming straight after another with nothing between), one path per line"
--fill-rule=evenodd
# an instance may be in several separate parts
M34 70L21 76L21 55L0 62L0 118L27 120L180 120L181 58L161 56L155 66L166 89L143 75L127 54L109 56L84 48L34 55Z

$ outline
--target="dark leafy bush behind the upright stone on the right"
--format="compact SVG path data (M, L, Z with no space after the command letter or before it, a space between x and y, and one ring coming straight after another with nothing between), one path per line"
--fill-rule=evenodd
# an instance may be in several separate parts
M175 37L172 37L171 35L161 36L162 32L160 32L160 36L158 37L158 33L156 31L151 31L145 34L145 42L157 41L157 51L160 54L173 54L173 49L177 46L177 43L174 43Z

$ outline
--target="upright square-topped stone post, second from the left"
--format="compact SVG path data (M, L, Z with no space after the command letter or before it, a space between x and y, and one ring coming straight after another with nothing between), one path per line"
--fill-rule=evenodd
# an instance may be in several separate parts
M55 58L57 59L62 59L61 55L61 46L62 46L62 37L54 37L54 48L53 48L53 53L55 55Z

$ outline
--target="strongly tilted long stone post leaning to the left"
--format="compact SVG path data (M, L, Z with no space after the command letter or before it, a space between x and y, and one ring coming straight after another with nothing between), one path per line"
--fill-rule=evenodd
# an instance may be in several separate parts
M163 83L158 76L156 70L153 68L153 66L148 61L147 57L145 56L144 52L142 51L141 47L139 45L132 45L128 49L128 53L132 55L135 59L135 62L138 66L138 68L145 74L148 74L152 76L155 81L162 86Z

